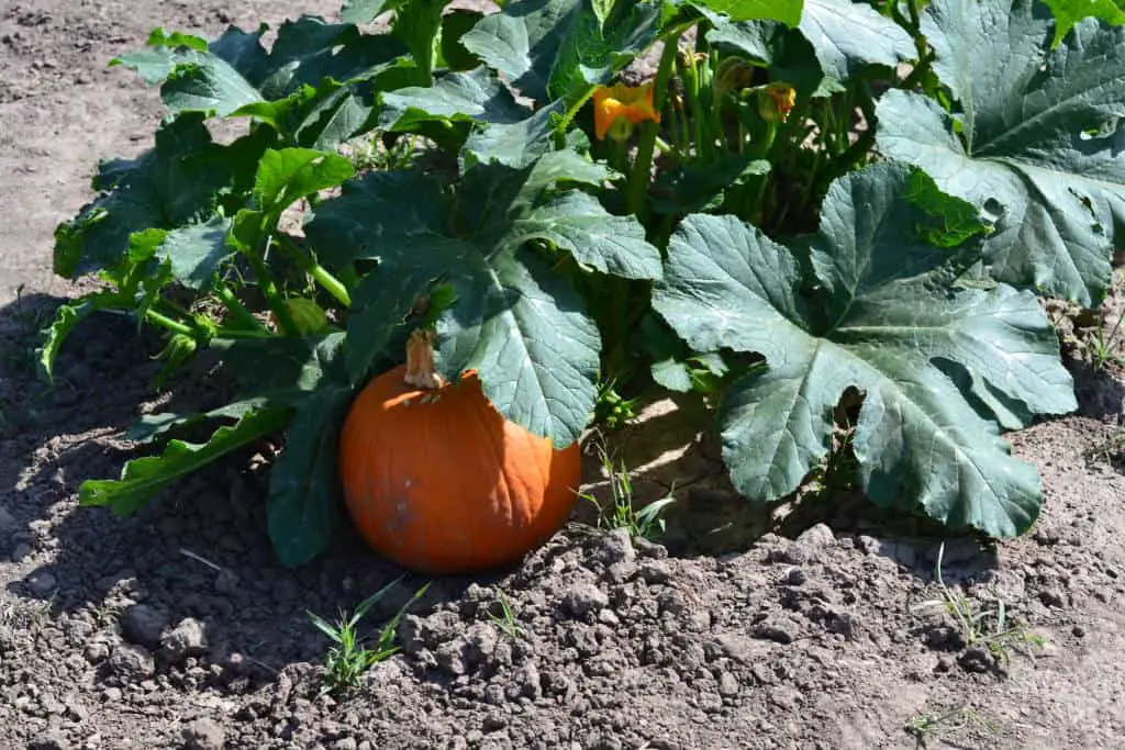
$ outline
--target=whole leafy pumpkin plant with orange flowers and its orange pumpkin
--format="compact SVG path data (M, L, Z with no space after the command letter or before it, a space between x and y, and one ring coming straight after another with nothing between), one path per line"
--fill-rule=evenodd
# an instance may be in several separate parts
M132 513L284 434L286 564L343 508L406 564L500 564L561 523L591 421L641 395L706 396L735 486L768 501L856 391L873 501L1022 533L1040 481L1001 431L1074 408L1035 295L1099 304L1125 226L1125 33L1079 4L350 0L269 48L156 30L116 63L168 115L58 227L55 270L105 288L60 309L43 363L114 309L165 332L166 383L207 352L241 390L143 417L153 453L80 501ZM219 119L244 132L215 143ZM439 388L403 382L407 351Z

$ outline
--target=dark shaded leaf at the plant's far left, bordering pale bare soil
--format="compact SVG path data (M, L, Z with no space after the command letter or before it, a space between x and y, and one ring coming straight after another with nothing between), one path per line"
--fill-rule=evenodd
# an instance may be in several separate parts
M232 180L232 148L212 143L200 117L184 116L137 159L102 162L93 180L102 195L55 229L55 273L74 278L119 262L134 232L209 219Z

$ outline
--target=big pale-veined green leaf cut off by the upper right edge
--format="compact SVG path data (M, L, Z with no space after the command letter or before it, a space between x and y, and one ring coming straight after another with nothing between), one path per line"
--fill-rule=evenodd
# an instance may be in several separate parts
M1125 227L1125 29L1088 19L1050 51L1051 13L1028 0L935 0L924 20L963 114L888 92L879 148L1002 211L996 278L1096 306Z

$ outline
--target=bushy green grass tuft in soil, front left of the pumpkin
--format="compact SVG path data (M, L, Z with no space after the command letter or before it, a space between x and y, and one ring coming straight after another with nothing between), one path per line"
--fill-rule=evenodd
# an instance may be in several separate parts
M394 645L398 623L402 621L407 607L422 598L426 589L430 588L430 584L415 591L414 596L398 611L398 614L382 626L374 648L369 649L363 644L356 626L363 618L363 615L367 614L368 609L400 580L402 577L396 578L363 599L356 607L356 612L352 615L349 616L341 612L334 625L320 615L315 615L312 612L308 613L313 624L333 642L324 660L321 695L339 696L354 689L359 686L363 672L374 665L398 652L398 647Z

